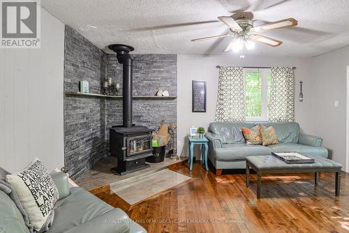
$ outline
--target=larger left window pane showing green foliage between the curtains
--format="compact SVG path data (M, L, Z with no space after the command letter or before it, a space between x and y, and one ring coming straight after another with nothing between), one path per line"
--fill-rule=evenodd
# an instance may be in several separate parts
M259 72L246 72L246 117L262 113L262 82Z

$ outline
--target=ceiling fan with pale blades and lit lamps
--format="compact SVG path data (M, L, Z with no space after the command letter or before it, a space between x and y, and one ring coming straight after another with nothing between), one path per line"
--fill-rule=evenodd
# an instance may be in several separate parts
M220 36L197 38L191 41L196 42L201 40L211 40L214 38L234 37L234 39L230 41L227 47L225 47L225 49L223 50L224 52L228 52L230 50L239 52L240 50L243 50L244 47L246 47L247 50L251 50L254 47L255 41L276 47L281 45L282 41L276 40L274 38L269 38L267 36L262 36L258 33L274 29L295 27L298 24L297 20L293 18L270 22L257 27L254 27L253 20L248 19L248 17L246 16L237 17L236 19L230 16L220 16L218 17L218 20L229 27L229 33Z

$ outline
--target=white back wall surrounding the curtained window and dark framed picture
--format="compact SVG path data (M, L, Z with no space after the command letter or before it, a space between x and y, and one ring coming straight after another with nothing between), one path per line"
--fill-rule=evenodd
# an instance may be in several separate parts
M299 81L303 80L304 101L295 101L296 121L305 133L312 132L312 96L311 93L311 59L302 57L268 57L246 56L241 60L236 54L228 55L178 55L178 153L187 156L188 146L185 140L191 126L204 126L214 121L218 91L218 68L222 66L295 66L295 96L299 94ZM207 82L207 112L191 112L191 81ZM183 147L184 146L184 147Z

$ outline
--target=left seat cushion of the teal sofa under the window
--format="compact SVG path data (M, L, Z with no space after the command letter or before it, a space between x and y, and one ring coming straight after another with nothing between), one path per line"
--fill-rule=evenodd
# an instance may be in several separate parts
M246 156L270 156L272 149L262 145L223 144L216 148L214 156L217 160L244 160Z

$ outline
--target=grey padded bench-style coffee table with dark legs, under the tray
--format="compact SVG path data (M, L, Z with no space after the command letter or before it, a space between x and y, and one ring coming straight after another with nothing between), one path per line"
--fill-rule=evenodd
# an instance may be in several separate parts
M289 173L314 173L315 185L318 184L319 172L336 173L336 196L341 189L340 163L322 157L314 157L315 163L287 164L274 156L248 156L246 157L246 186L250 183L250 168L257 172L257 198L260 198L262 174L289 174Z

